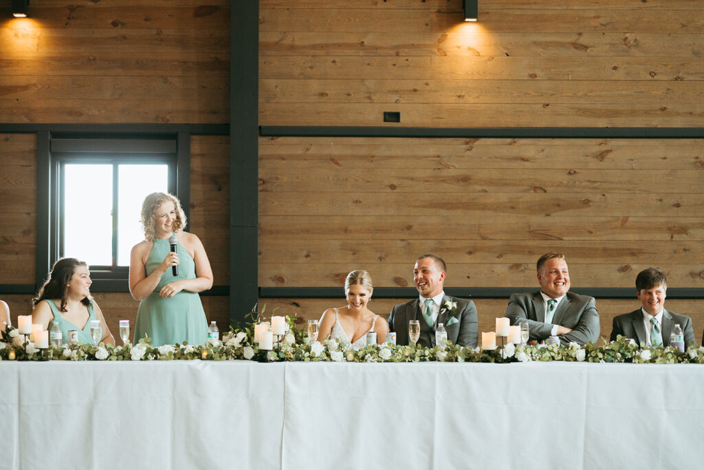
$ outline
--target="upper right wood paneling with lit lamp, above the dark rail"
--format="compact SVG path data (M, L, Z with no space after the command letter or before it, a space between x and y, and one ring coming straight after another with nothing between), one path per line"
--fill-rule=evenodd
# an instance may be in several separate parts
M260 3L262 125L703 122L700 2L288 3Z

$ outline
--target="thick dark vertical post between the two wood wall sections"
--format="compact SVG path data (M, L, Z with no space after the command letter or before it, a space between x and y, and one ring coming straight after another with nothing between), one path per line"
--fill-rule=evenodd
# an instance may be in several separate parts
M230 2L230 322L258 298L259 1Z

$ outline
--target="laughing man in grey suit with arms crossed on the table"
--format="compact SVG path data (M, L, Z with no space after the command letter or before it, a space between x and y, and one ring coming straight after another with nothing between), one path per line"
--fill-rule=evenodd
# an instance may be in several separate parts
M560 338L561 343L596 342L599 314L594 298L569 292L570 273L565 255L543 254L536 268L541 290L511 295L505 315L511 319L511 324L527 321L532 344L551 336Z

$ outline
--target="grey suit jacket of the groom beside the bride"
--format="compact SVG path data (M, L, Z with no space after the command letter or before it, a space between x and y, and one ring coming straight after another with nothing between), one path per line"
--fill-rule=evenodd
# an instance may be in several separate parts
M451 300L457 302L457 308L453 311L448 311L445 308L445 302ZM405 304L394 305L389 314L389 330L396 332L396 344L408 345L408 321L422 319L420 307L418 307L418 299L415 298ZM458 321L449 325L451 318L454 317ZM467 299L458 299L445 295L440 305L440 313L435 321L435 324L444 323L447 330L447 339L455 343L455 345L466 347L477 347L477 308L474 307L474 302ZM432 339L431 341L434 341ZM421 345L432 347L434 344L425 344L425 341L418 341Z

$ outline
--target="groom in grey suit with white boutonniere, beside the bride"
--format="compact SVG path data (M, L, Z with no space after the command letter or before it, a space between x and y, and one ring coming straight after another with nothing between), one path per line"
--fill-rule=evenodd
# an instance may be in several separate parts
M396 344L408 345L408 321L418 320L418 343L435 346L435 330L444 323L447 339L455 345L477 346L477 309L474 302L445 295L447 276L445 261L434 254L424 254L415 261L413 283L420 296L395 305L389 315L389 330L396 332Z

